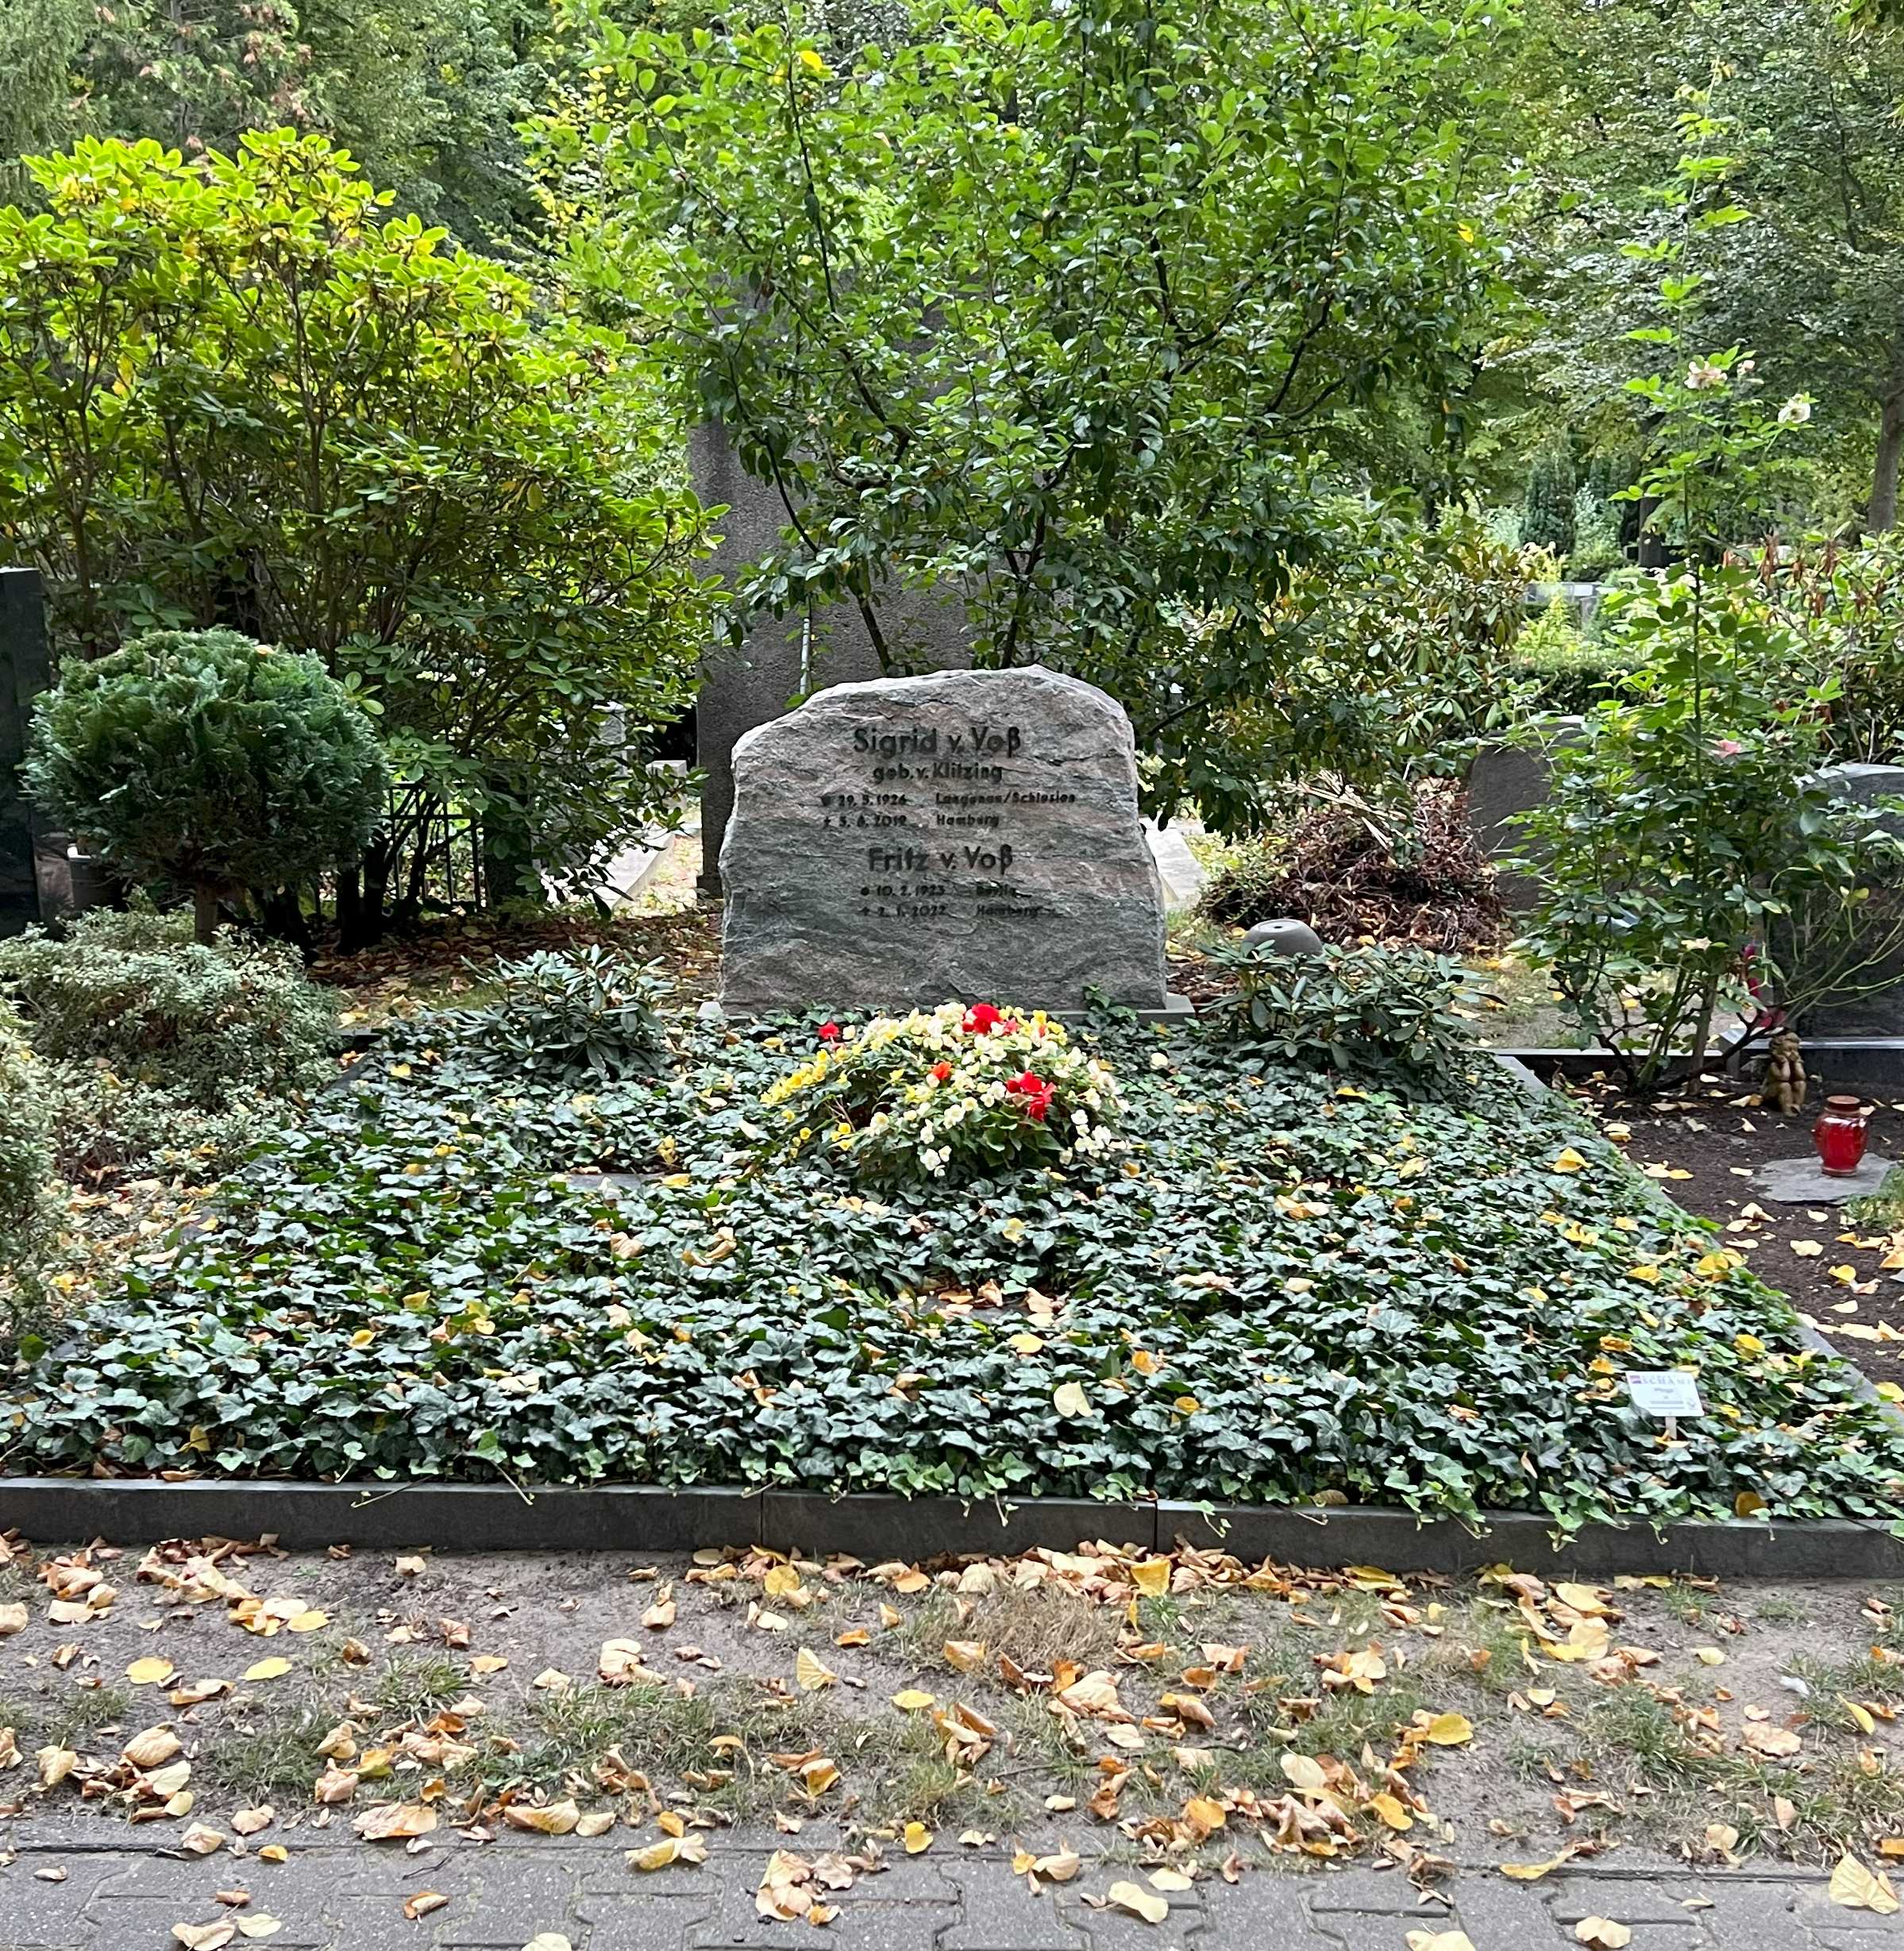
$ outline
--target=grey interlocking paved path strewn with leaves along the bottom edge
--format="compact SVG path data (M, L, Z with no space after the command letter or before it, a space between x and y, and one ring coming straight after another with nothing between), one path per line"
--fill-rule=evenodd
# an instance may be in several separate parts
M1578 1951L1576 1924L1611 1918L1631 1930L1631 1951L1898 1951L1904 1916L1845 1910L1822 1873L1686 1871L1672 1865L1596 1863L1514 1885L1465 1871L1448 1902L1420 1902L1399 1873L1258 1871L1237 1885L1202 1881L1172 1894L1163 1924L1092 1908L1126 1865L1092 1865L1075 1883L1030 1894L1009 1857L938 1850L897 1857L880 1875L837 1894L837 1918L806 1924L755 1914L753 1892L774 1838L735 1832L714 1840L700 1867L636 1875L620 1842L548 1840L451 1844L417 1855L365 1846L300 1844L289 1863L218 1855L181 1859L90 1836L20 1830L0 1871L4 1951L178 1951L176 1924L279 1918L256 1939L271 1951L523 1951L550 1933L558 1951L743 1951L812 1945L813 1951L1407 1951L1408 1933L1465 1931L1475 1951ZM62 1869L64 1881L45 1881ZM248 1906L215 1892L250 1891ZM449 1902L404 1922L419 1891ZM254 1939L232 1937L236 1947ZM1442 1951L1436 1945L1436 1951Z

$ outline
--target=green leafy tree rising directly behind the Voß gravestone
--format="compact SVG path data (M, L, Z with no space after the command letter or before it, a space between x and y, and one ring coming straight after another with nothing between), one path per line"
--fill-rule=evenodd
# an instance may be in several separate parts
M1487 31L1385 0L954 0L890 49L599 20L544 166L577 285L655 322L784 498L735 622L849 603L903 669L892 599L940 589L981 663L1116 695L1155 804L1247 825L1221 722L1332 542L1317 472L1440 398L1492 291Z

